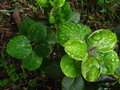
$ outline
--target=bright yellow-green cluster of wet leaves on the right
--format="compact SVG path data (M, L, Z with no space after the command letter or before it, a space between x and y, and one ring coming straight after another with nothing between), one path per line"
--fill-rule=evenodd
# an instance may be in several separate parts
M117 37L110 30L91 33L86 25L67 22L59 25L57 37L67 53L60 62L66 76L78 77L82 72L87 81L93 82L100 74L113 75L118 68L118 55L113 51Z

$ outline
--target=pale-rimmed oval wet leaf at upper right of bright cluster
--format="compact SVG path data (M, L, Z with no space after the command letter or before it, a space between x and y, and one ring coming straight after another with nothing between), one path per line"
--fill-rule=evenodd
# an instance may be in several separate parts
M116 35L110 30L100 29L93 32L88 38L88 44L101 52L108 52L115 48Z

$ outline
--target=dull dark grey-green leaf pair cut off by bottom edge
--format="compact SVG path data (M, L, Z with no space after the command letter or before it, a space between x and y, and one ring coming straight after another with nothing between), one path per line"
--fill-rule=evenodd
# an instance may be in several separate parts
M84 90L84 82L82 77L64 77L62 80L62 90Z

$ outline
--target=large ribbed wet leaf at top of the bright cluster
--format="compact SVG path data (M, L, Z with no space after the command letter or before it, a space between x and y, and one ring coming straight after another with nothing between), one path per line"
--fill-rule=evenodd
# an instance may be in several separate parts
M66 22L59 25L57 38L59 43L64 45L71 38L85 41L90 33L91 30L86 25Z

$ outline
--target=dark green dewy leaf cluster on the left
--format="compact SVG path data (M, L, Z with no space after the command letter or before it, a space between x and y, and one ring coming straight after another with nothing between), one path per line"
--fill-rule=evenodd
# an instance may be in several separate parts
M34 71L40 67L42 57L47 57L51 51L51 46L45 39L47 27L26 17L19 25L19 33L21 35L8 42L6 51L12 57L20 59L23 67Z

